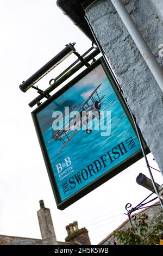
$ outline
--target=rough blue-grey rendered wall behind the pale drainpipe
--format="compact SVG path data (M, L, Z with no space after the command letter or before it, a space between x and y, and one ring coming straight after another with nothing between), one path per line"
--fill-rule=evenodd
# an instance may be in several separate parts
M158 46L163 43L162 0L123 0L123 3L163 66L163 57L158 54ZM162 92L111 1L95 1L85 14L115 71L142 135L163 171Z

